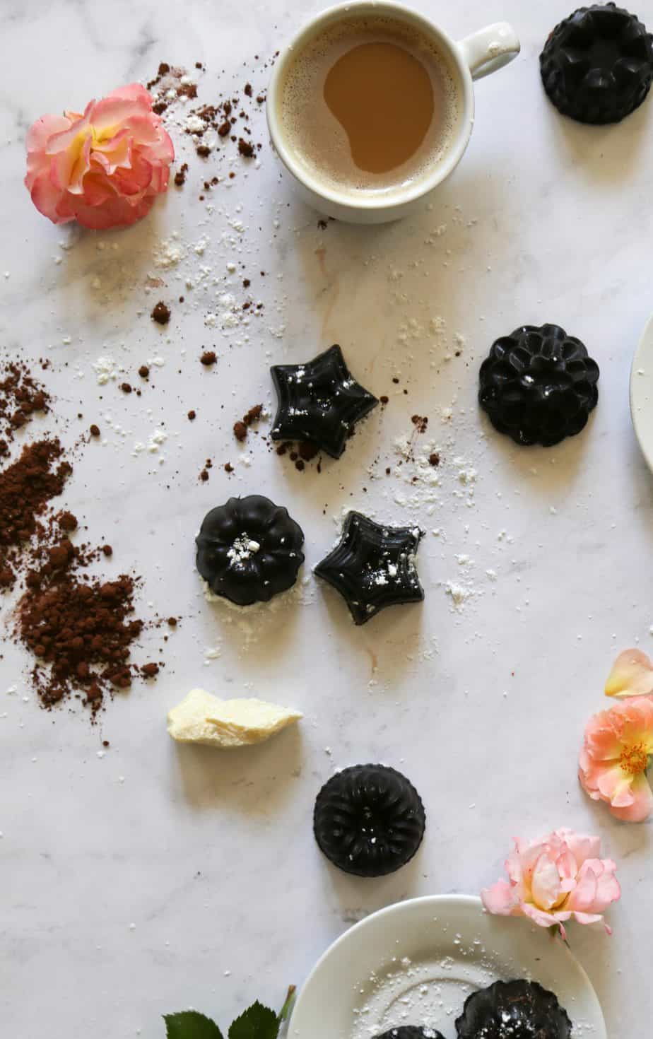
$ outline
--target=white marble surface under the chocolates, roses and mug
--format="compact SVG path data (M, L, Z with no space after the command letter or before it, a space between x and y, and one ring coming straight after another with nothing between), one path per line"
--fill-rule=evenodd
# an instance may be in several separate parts
M259 89L267 73L243 74L241 62L249 70L253 54L270 55L319 6L28 0L0 11L2 349L48 355L58 397L56 416L28 435L56 429L72 445L90 422L103 427L106 443L78 453L65 504L112 543L109 572L143 574L141 612L183 618L159 681L117 697L94 729L83 715L40 711L29 660L3 644L2 1033L159 1039L164 1012L194 1006L227 1022L255 996L278 1005L352 918L414 895L478 893L501 873L513 834L568 825L601 833L623 883L609 913L614 937L573 927L572 948L608 1034L643 1037L653 1014L651 827L616 823L580 792L575 770L614 656L637 641L653 649L652 486L627 393L651 311L653 102L608 129L576 126L550 107L537 55L567 0L423 3L457 36L508 19L523 50L478 85L462 165L408 223L321 231L280 181L267 142L260 169L245 176L237 164L233 186L215 189L212 212L197 195L205 169L220 172L218 163L203 166L189 152L185 188L123 233L54 228L22 186L24 132L42 112L145 80L163 59L206 62L205 102L230 89L233 75ZM638 12L653 22L650 0ZM265 139L262 115L259 125ZM188 138L174 124L171 132L185 155ZM153 249L172 231L189 255L162 272ZM200 257L192 244L202 236ZM203 319L224 291L212 278L229 276L233 261L251 274L265 315L225 340ZM205 288L200 264L211 269ZM148 272L165 283L154 296ZM148 310L159 295L184 292L186 276L196 287L162 334ZM439 339L429 330L438 316ZM577 438L518 450L479 414L478 366L495 337L544 321L591 347L602 371L599 406ZM456 334L462 353L445 361ZM321 475L296 473L261 441L244 464L230 427L252 403L272 403L269 364L305 359L334 341L365 384L389 394L385 412ZM198 363L202 344L220 354L213 371ZM98 385L91 365L101 355L131 381L145 358L165 364L137 399ZM414 412L430 418L418 453L433 441L442 454L432 508L421 484L385 476ZM134 443L161 422L170 433L165 460L133 457ZM202 484L208 456L216 468ZM219 464L227 458L230 478ZM465 486L459 474L470 469L475 482ZM419 552L424 607L357 630L309 578L305 602L264 619L248 644L201 597L193 535L208 508L249 491L285 503L302 524L308 576L343 509L419 522L429 531ZM457 611L447 581L477 594ZM9 609L6 602L5 631ZM147 635L153 651L160 639ZM217 645L221 656L206 665L206 648ZM11 685L18 695L5 694ZM196 685L287 702L305 720L255 749L180 749L166 736L166 709ZM101 738L111 744L103 758ZM414 862L378 882L331 870L310 827L320 784L336 766L368 760L405 769L429 818Z

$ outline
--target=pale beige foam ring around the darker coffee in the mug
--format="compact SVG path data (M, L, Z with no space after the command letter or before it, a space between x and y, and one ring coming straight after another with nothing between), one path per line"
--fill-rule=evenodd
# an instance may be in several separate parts
M424 139L406 161L383 172L356 164L348 133L325 99L325 83L336 63L369 44L389 44L407 51L407 60L416 59L427 73L433 95L433 114ZM290 57L277 113L287 144L295 160L323 188L337 194L351 192L359 197L360 192L387 195L404 190L428 176L456 135L460 112L455 75L446 56L418 28L383 16L344 18L318 30ZM410 97L402 95L402 83L387 85L408 111ZM382 108L375 110L375 118L379 114L383 118ZM401 127L398 130L401 133ZM382 132L390 135L391 127L383 123Z

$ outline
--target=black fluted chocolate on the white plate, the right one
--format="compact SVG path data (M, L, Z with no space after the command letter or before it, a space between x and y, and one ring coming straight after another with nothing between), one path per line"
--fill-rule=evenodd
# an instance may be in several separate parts
M553 992L518 979L468 996L456 1030L458 1039L569 1039L572 1023Z

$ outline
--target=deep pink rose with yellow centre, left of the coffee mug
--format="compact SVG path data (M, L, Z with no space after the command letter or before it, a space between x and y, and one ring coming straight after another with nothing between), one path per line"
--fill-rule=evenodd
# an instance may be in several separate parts
M116 228L145 216L168 186L174 149L139 83L90 101L83 115L42 115L27 133L25 185L53 223Z

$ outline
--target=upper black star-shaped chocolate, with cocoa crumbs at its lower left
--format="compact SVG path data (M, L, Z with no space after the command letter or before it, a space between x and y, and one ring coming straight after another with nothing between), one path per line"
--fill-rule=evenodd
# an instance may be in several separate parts
M274 365L278 407L273 441L311 441L339 458L354 423L379 403L356 382L339 346L304 365Z

